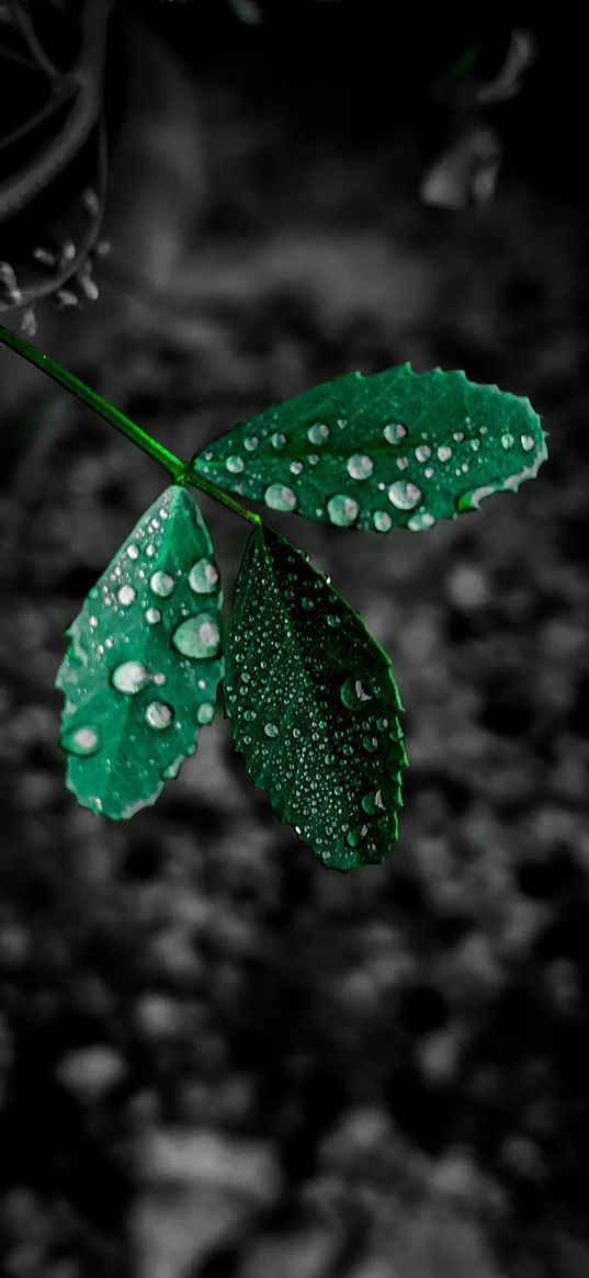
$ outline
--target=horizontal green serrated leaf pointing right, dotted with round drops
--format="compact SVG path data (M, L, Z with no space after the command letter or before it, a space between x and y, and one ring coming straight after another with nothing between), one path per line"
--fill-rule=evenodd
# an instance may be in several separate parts
M534 478L544 438L528 399L404 364L296 395L215 440L193 465L272 510L422 532Z

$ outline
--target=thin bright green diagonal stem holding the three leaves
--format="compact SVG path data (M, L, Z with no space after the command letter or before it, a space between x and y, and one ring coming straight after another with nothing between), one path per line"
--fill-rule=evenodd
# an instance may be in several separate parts
M129 417L120 413L114 404L109 404L109 400L102 399L97 391L93 391L86 382L82 382L79 377L74 377L69 373L66 368L63 368L51 355L46 355L42 350L37 350L32 346L29 341L20 337L19 334L13 332L11 328L5 328L0 325L0 343L15 350L18 355L27 359L29 364L34 368L40 368L47 377L51 377L54 382L64 386L70 395L80 400L82 404L87 404L98 417L102 417L109 426L114 426L115 431L120 431L125 435L132 443L137 445L147 456L152 458L153 461L158 461L160 465L171 474L175 483L189 483L193 488L199 488L201 492L207 493L208 497L213 497L215 501L220 501L222 506L227 510L233 510L235 515L241 519L247 519L250 524L259 524L259 515L256 515L252 510L247 510L241 506L239 501L234 501L227 493L217 488L216 484L206 479L204 475L199 475L192 461L181 461L176 458L174 452L165 449L162 443L158 443L151 435L147 433L135 422L132 422Z

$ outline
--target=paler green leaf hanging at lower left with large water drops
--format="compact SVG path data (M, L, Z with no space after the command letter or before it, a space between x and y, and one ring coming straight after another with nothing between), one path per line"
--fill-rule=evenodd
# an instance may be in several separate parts
M194 497L172 486L146 511L66 634L66 783L126 820L194 754L222 676L221 593Z

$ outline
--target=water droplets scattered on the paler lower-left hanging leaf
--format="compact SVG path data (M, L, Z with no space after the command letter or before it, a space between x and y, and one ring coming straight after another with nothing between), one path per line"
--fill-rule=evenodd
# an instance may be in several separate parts
M162 506L158 511L160 519L165 520L169 516L169 511ZM160 528L160 520L157 518L152 519L147 525L147 532L156 533ZM135 530L137 541L144 535L144 529L141 527ZM137 541L133 541L126 546L124 556L135 564L141 557L141 547ZM144 548L144 555L147 561L152 560L156 555L156 546L153 542L148 542ZM147 569L147 570L146 570ZM148 566L139 566L137 570L137 576L141 581L144 581ZM129 608L137 601L137 589L129 581L119 584L123 578L123 569L120 562L115 565L110 578L110 585L105 584L102 587L102 602L106 607L119 606L120 608ZM176 576L181 576L181 569L178 569ZM187 576L188 584L193 593L203 599L207 596L216 594L220 590L220 576L218 569L212 562L212 560L203 557L197 560ZM153 602L148 598L144 601L144 619L149 626L157 626L162 619L162 607L165 601L170 599L174 594L176 583L170 573L157 569L148 576L148 588ZM97 587L91 592L91 598L97 594ZM189 616L189 610L183 606L181 612L185 617L171 635L171 642L174 648L183 658L194 659L210 659L216 657L221 645L221 631L218 626L217 617L211 612L199 611L195 616ZM88 625L91 630L96 630L98 626L98 619L91 615L88 619ZM106 648L112 648L114 639L111 635L105 639L103 644L97 644L96 652L100 657L103 656ZM183 659L181 665L188 666L189 661ZM135 697L149 684L155 686L162 686L166 682L166 675L151 672L141 661L128 659L116 665L110 674L110 682L112 688L116 689L124 697ZM201 693L207 690L207 680L198 679L197 686ZM197 721L199 725L210 723L215 716L215 705L212 702L203 700L197 708ZM162 732L169 728L174 722L174 708L169 702L153 699L149 700L144 709L144 720L148 727L153 728L155 732ZM183 723L176 720L176 728L181 728ZM96 754L101 749L100 734L96 727L84 725L75 728L73 732L64 739L65 748L79 755ZM178 768L175 769L178 771ZM174 769L169 769L169 773L175 774Z

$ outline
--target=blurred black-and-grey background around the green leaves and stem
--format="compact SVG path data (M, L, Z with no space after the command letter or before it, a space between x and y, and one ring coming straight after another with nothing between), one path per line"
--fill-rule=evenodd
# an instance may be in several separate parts
M532 397L425 535L272 523L392 657L388 861L327 872L218 716L64 789L80 602L166 477L0 350L0 1269L586 1278L586 52L567 6L0 4L0 320L179 455L353 368ZM36 334L36 336L34 336ZM226 599L244 528L204 501Z

